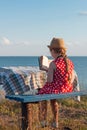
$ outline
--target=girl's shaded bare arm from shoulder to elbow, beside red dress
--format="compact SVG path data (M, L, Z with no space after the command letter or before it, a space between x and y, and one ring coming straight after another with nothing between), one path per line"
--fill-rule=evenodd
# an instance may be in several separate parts
M56 69L56 65L54 64L54 62L52 61L49 65L49 69L48 69L48 74L47 74L47 82L52 82L53 81L53 74L54 74L54 70Z

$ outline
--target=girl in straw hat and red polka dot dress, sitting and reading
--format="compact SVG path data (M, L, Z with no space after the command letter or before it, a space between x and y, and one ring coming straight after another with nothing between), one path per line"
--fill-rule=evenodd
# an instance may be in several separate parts
M48 45L51 56L54 60L50 63L48 69L47 82L40 89L38 94L59 94L73 91L71 82L74 65L66 55L66 47L64 40L61 38L53 38L50 45ZM42 108L41 108L42 107ZM58 128L58 103L56 100L51 100L51 107L53 112L53 127ZM47 102L42 102L40 106L42 111L42 126L46 126Z

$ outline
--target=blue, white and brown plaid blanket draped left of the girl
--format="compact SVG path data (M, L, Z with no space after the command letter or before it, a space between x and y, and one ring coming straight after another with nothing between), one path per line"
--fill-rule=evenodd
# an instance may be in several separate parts
M6 95L35 94L46 82L46 72L34 67L0 69L0 83Z

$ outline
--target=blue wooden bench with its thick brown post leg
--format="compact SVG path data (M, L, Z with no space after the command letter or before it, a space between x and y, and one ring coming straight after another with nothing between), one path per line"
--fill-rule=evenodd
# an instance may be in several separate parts
M79 91L64 94L44 94L44 95L7 95L9 100L21 102L22 109L22 130L33 130L32 128L32 103L38 103L44 100L65 99L75 96L87 95L87 91Z

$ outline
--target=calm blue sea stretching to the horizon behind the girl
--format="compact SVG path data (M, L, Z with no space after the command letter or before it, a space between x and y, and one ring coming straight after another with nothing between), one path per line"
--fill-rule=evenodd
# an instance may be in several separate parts
M32 66L39 67L39 56L0 56L0 68ZM48 56L51 59L51 57ZM70 56L78 75L80 88L87 90L87 56Z

